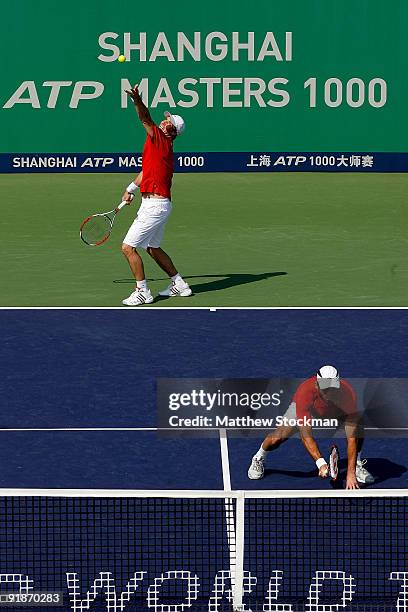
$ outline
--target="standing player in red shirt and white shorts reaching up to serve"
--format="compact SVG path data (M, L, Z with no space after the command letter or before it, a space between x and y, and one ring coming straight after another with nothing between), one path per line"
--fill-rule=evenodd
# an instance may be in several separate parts
M130 183L122 200L130 204L132 195L140 189L142 203L136 219L130 226L122 245L136 281L135 290L123 300L125 306L151 304L153 296L147 286L143 260L138 249L144 249L171 278L163 296L187 297L192 294L188 284L176 270L170 257L160 248L164 228L171 213L171 182L173 178L173 142L184 130L184 121L179 115L164 113L165 119L157 126L144 105L138 86L126 91L132 98L136 112L146 130L143 148L142 172Z

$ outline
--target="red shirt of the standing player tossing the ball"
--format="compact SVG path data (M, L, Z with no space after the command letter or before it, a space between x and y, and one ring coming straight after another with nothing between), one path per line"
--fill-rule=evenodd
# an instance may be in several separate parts
M147 135L143 148L142 170L141 193L157 193L171 199L173 141L157 125L153 125L152 136Z

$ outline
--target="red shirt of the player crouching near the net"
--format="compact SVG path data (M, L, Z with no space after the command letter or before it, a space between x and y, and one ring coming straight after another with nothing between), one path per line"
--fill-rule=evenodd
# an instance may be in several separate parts
M313 416L331 419L358 412L356 394L346 380L340 381L340 388L333 389L333 399L327 401L319 394L316 376L313 376L298 387L293 401L298 419Z

